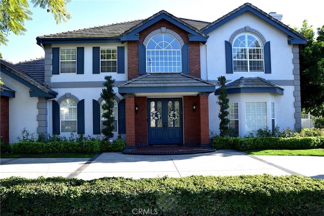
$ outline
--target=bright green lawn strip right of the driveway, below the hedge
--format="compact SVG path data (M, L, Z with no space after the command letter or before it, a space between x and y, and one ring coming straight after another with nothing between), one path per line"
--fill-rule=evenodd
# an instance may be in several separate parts
M303 150L249 150L245 151L250 155L302 155L302 156L324 156L324 149L303 149Z

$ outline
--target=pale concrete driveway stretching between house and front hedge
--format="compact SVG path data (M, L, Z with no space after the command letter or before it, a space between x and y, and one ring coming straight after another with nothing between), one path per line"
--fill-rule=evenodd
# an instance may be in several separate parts
M67 177L84 180L102 177L154 178L270 174L302 175L324 179L324 157L250 156L234 150L204 154L127 155L102 153L94 158L1 159L0 178Z

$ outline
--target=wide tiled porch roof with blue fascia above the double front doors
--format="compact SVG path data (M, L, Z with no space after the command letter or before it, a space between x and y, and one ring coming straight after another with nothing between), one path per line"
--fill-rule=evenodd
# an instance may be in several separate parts
M118 93L212 93L215 86L213 82L183 73L146 73L119 84Z

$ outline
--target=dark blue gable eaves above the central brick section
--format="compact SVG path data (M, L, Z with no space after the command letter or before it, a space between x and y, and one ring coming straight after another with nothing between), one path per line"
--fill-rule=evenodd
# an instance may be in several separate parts
M141 23L137 24L130 30L126 31L123 35L120 36L121 41L127 41L127 40L139 40L138 33L145 28L155 24L156 22L160 20L167 20L170 23L178 26L179 28L185 30L189 34L189 41L200 41L200 42L206 42L208 36L193 27L192 25L189 25L187 22L184 22L183 20L173 16L172 14L166 12L166 11L160 11L153 16L145 19Z

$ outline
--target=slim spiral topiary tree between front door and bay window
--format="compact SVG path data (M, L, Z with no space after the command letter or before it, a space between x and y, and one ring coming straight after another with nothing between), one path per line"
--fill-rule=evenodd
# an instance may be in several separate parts
M229 128L228 128L228 124L229 124L228 102L229 102L229 99L227 98L227 92L226 92L226 88L225 88L225 83L226 83L225 76L219 76L218 83L220 85L220 89L219 89L220 94L218 96L218 101L217 101L217 103L220 106L218 117L221 120L221 122L219 123L219 131L220 131L221 137L226 137L229 135Z

